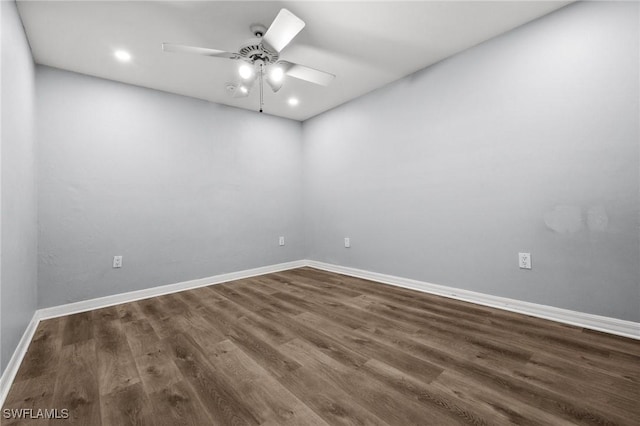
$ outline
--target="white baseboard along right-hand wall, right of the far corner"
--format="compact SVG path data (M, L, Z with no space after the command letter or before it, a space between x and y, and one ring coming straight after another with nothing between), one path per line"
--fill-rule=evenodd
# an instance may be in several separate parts
M577 327L603 331L605 333L611 333L618 336L640 339L640 323L633 321L603 317L600 315L571 311L553 306L539 305L537 303L523 302L506 297L491 296L488 294L477 293L475 291L431 284L424 281L396 277L393 275L379 274L377 272L364 271L362 269L349 268L346 266L332 265L330 263L317 262L315 260L308 260L306 263L307 266L324 271L364 278L397 287L409 288L411 290L418 290L425 293L463 300L465 302L477 303L479 305L490 306L492 308L504 309L519 314L575 325Z

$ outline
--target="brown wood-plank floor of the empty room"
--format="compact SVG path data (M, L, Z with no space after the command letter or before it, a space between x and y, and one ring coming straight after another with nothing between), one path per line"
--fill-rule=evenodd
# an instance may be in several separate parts
M87 426L639 425L640 341L301 268L43 321L3 408Z

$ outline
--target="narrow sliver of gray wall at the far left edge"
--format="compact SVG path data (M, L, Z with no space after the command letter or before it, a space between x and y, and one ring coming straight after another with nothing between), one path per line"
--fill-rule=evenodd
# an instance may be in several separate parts
M14 2L2 15L0 371L36 308L37 195L34 64Z

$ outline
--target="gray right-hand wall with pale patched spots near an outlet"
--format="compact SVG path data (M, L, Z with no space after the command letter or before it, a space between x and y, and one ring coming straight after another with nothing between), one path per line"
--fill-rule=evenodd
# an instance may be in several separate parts
M306 121L308 257L640 320L638 16L570 5Z

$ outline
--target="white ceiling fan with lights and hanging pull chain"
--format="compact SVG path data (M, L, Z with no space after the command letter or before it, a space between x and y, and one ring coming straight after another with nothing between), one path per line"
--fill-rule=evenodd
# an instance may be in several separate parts
M334 74L311 67L280 60L280 52L304 28L305 23L287 9L281 9L269 29L263 25L251 25L254 38L247 40L238 53L206 47L185 46L175 43L162 43L163 52L191 53L241 60L238 68L240 80L227 83L227 90L233 97L246 97L256 80L260 83L260 112L263 107L263 80L266 80L273 92L280 90L285 76L294 77L310 83L328 86L335 78Z

